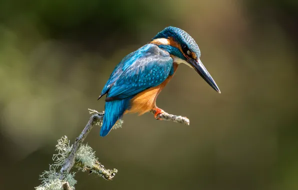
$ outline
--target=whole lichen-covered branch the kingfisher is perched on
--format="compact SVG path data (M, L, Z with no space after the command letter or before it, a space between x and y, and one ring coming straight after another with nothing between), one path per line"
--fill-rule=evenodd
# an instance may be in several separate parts
M156 111L150 110L150 112L155 114ZM89 118L80 135L75 139L73 145L69 144L67 136L58 140L58 144L56 145L58 153L53 154L52 158L54 163L50 164L48 171L44 171L40 175L42 184L35 187L36 190L60 188L66 190L73 189L76 180L73 178L75 172L70 173L72 167L81 169L81 171L95 173L106 180L111 180L115 176L117 169L106 169L98 162L92 148L89 145L82 143L94 124L97 124L100 127L102 125L104 112L101 113L96 110L89 109L89 113L92 114L92 116ZM188 118L172 115L166 112L159 113L156 118L189 125ZM120 119L113 128L121 127L122 123L123 121ZM58 170L58 168L60 169Z

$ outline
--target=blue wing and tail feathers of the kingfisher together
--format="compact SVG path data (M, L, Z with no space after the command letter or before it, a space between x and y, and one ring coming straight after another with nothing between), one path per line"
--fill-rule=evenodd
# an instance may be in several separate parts
M101 95L107 95L100 135L105 136L123 112L129 109L133 96L161 84L173 72L173 60L169 53L155 44L146 44L126 55L101 91Z

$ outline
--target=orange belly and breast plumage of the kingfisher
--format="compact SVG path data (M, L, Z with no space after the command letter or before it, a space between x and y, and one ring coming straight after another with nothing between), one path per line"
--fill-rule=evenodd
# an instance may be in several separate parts
M174 63L174 73L178 67L178 64ZM138 94L136 94L130 100L130 109L126 110L124 113L139 113L139 115L150 111L152 108L156 107L155 101L159 92L164 88L164 86L169 82L171 76L168 76L161 84L155 87L148 88Z

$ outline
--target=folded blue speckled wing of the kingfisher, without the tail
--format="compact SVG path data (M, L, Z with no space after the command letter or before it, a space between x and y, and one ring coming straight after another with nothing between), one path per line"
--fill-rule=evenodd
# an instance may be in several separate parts
M106 101L130 97L159 85L171 74L173 60L169 53L154 44L146 44L121 60L101 95L107 93Z

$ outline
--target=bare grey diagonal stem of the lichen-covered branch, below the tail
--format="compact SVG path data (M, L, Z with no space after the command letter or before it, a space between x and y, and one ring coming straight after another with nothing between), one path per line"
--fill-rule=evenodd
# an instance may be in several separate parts
M80 135L75 139L74 144L72 146L72 149L67 157L67 159L65 160L65 162L63 163L60 171L59 171L59 179L63 179L65 176L63 175L64 173L69 173L70 169L72 168L74 161L75 161L75 152L78 150L78 148L80 147L80 145L82 144L82 142L84 141L85 137L88 135L89 131L91 130L91 128L93 127L93 125L98 122L101 118L102 118L103 114L97 113L97 114L93 114L85 128L82 130L82 132L80 133Z

